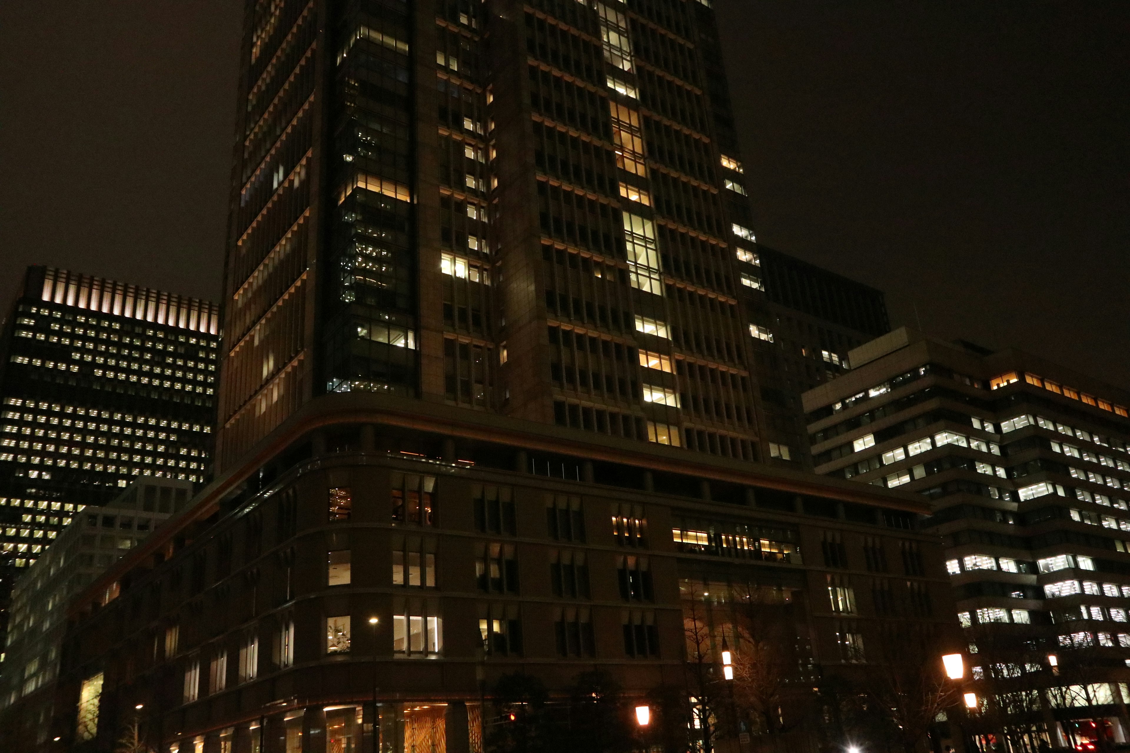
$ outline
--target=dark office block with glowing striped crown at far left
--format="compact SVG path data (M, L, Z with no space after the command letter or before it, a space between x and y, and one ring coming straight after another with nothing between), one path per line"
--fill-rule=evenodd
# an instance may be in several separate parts
M137 476L205 480L214 304L29 266L0 341L0 551L35 561Z

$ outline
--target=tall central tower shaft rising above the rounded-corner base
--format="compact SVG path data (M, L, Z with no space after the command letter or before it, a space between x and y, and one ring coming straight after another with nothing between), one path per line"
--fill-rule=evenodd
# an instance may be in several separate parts
M246 23L221 467L329 392L757 457L710 9L290 0Z

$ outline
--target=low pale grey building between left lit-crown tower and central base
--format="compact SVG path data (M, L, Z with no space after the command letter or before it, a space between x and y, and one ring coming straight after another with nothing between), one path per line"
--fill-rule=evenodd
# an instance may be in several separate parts
M0 709L20 702L18 718L36 745L46 742L50 729L70 598L169 516L183 511L191 496L190 481L139 476L116 499L75 516L23 572L12 593L0 665Z

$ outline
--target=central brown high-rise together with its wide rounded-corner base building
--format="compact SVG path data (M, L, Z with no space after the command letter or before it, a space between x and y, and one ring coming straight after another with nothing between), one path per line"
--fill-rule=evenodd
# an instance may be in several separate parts
M789 724L939 666L924 501L751 462L706 5L246 9L216 479L72 602L49 739L469 753L499 678L599 666L737 746L709 678L766 615Z

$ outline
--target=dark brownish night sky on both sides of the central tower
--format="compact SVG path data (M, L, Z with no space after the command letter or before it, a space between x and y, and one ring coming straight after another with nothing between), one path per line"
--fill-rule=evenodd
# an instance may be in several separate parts
M762 242L1130 387L1130 3L714 2ZM218 296L241 8L0 5L2 299Z

